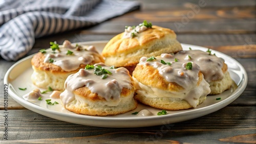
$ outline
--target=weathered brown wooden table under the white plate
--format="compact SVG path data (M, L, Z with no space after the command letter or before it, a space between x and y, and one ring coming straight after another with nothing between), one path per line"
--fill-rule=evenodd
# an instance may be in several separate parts
M121 1L120 1L121 2ZM189 121L143 128L100 128L61 122L32 112L9 97L8 140L4 139L4 84L15 62L0 59L1 143L256 143L256 20L255 1L141 1L140 10L83 28L35 40L29 55L62 43L110 40L124 26L144 19L173 29L181 43L209 47L239 61L247 71L248 85L227 107Z

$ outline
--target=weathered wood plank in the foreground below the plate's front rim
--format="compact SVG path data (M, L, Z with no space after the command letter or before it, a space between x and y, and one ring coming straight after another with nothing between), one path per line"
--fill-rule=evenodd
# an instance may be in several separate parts
M22 140L10 141L14 143L52 143L55 140L62 143L76 141L77 138L92 142L104 142L106 139L113 142L191 142L200 139L200 143L216 143L226 137L253 134L256 130L255 115L256 107L225 107L217 112L175 124L144 128L100 128L57 121L30 110L9 110L8 138ZM3 121L4 117L1 116L0 122ZM3 139L4 135L1 136Z

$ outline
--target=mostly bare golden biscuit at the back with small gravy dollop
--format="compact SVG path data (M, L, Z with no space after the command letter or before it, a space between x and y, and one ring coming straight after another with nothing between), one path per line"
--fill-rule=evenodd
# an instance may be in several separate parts
M140 26L134 29L138 27ZM129 38L127 35L130 33L127 34L127 29L105 45L102 56L105 57L107 65L136 66L143 56L159 56L162 53L177 53L182 50L173 30L152 26L152 28L144 28L142 32L135 32L136 35Z

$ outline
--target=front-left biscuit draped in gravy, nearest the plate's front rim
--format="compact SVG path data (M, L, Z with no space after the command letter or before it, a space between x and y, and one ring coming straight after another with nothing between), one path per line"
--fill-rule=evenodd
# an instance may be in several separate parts
M110 73L97 76L98 66ZM80 69L67 78L65 88L60 94L62 104L78 114L116 115L137 107L133 79L123 67L111 69L99 63L93 69Z

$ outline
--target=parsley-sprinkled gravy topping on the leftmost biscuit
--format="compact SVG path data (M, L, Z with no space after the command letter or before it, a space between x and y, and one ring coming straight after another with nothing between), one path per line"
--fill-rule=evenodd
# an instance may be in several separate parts
M47 50L44 62L49 63L49 60L53 59L53 64L61 67L65 71L76 70L80 64L89 64L93 60L100 61L99 57L101 57L93 45L74 46L68 40L65 40L62 46L59 45L59 50L55 50L55 53L51 49ZM73 53L67 55L68 51Z

